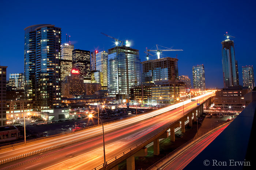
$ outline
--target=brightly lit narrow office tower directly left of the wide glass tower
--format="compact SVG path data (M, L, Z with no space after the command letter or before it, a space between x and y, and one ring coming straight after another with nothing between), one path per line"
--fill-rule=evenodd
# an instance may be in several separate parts
M102 90L108 90L108 53L106 51L96 54L96 70L102 74Z

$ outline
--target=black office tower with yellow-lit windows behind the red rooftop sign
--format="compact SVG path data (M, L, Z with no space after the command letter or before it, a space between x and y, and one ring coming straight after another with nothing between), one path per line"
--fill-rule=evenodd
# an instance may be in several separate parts
M79 70L84 83L91 83L90 51L75 49L72 52L73 68Z

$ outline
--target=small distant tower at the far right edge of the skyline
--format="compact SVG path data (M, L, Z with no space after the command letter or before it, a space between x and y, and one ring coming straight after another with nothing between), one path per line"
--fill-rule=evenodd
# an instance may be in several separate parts
M242 66L242 74L243 74L243 83L244 87L248 87L249 89L253 89L254 84L254 73L252 66Z

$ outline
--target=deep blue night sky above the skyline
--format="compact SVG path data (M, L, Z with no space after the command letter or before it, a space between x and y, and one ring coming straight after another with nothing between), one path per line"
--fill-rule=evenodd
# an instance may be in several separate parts
M0 2L0 64L7 74L24 72L24 28L54 24L71 43L82 50L107 51L114 40L130 40L131 47L146 60L146 47L155 44L184 51L178 55L179 75L189 75L192 66L204 64L206 87L223 88L221 41L226 31L236 38L235 55L242 84L242 66L256 66L255 1L7 1ZM151 54L153 54L151 52ZM156 59L157 56L150 56ZM256 68L255 68L256 69Z

